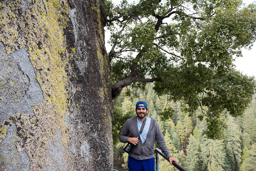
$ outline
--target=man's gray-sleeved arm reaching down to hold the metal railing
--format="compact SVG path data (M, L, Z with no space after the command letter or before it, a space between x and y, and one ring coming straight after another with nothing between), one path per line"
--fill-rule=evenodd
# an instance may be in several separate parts
M172 165L172 161L176 161L177 160L171 155L165 141L164 141L164 138L163 138L163 134L160 130L160 127L157 123L157 121L155 121L155 140L157 141L157 145L159 146L160 150L163 152L163 154L168 158L169 162L171 163ZM178 162L177 162L178 163Z

